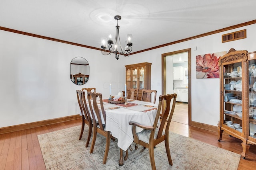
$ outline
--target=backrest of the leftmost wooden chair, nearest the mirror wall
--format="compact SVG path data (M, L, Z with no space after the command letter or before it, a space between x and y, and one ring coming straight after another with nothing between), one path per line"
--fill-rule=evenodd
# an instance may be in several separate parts
M85 92L82 90L76 90L77 101L81 110L82 115L84 115L84 119L87 121L91 120L90 112L88 110L85 98Z

